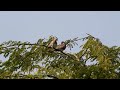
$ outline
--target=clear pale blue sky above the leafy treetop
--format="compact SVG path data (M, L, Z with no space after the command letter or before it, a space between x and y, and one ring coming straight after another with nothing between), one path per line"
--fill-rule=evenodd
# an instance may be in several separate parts
M0 43L34 43L50 35L57 36L60 43L83 38L86 33L107 46L120 46L120 11L0 11Z

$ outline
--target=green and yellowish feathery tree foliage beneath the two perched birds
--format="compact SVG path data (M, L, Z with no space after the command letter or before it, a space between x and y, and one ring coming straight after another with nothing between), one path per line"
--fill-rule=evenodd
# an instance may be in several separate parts
M119 79L120 47L108 47L90 34L85 38L66 40L70 50L78 45L79 52L69 53L48 48L52 36L36 43L7 41L0 44L1 79ZM87 65L87 62L95 62Z

